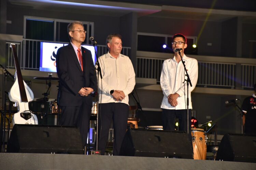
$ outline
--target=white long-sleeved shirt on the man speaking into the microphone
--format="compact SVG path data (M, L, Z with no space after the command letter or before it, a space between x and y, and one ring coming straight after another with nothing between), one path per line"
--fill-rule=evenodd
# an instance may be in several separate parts
M192 83L192 87L188 87L188 97L189 97L189 109L192 109L191 103L191 91L194 90L197 83L198 78L198 63L195 58L189 58L185 54L183 55L183 61L185 62L186 69L189 75L189 78ZM175 56L173 58L167 59L163 62L160 84L163 90L163 100L161 104L161 108L164 109L186 109L186 101L187 101L187 82L184 82L184 77L186 72L184 70L184 66L182 61L177 63L175 60ZM177 98L178 105L176 107L171 106L168 103L168 96L170 94L179 94L180 96Z

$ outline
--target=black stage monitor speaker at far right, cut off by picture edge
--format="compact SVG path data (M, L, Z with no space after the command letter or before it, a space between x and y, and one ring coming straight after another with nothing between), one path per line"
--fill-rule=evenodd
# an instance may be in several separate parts
M256 136L225 134L216 160L256 163Z

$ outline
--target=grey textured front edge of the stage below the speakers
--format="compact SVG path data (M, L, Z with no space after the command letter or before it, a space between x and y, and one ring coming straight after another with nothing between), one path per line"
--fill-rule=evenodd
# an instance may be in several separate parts
M2 170L255 170L256 163L194 160L178 158L100 156L72 154L0 153Z

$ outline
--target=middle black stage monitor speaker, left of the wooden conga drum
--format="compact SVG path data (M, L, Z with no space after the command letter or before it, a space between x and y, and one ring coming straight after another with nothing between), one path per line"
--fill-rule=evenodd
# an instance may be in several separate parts
M193 147L186 132L128 129L120 155L193 159Z

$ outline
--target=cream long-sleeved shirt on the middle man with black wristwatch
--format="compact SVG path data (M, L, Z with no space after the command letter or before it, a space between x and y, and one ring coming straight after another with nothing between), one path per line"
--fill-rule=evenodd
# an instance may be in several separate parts
M110 91L121 90L125 94L125 99L121 103L129 105L128 95L135 86L135 72L130 58L123 54L115 58L108 52L100 56L98 60L102 72L102 86L99 78L99 103L120 102L114 100Z

